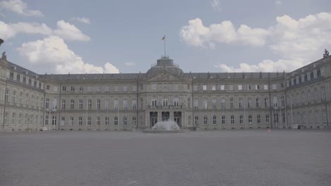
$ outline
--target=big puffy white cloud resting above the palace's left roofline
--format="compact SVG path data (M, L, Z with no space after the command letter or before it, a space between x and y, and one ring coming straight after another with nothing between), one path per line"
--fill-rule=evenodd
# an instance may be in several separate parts
M49 73L119 73L111 63L105 63L103 67L85 63L57 36L23 43L18 51L31 67L44 67L50 69Z

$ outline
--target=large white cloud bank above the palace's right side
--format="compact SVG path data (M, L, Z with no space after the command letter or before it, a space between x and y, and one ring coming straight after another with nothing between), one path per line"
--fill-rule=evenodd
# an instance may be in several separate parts
M180 30L182 41L192 46L213 48L214 43L267 45L279 56L276 61L263 60L257 64L240 63L239 67L220 63L216 67L228 72L289 72L322 57L325 48L331 48L331 13L317 13L298 20L290 16L276 18L276 24L266 29L241 25L238 30L231 21L202 25L199 18L190 20ZM210 46L211 45L211 46Z

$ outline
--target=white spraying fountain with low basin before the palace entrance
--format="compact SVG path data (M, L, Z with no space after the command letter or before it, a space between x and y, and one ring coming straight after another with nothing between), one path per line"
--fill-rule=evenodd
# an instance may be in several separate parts
M173 120L160 121L151 130L144 130L144 133L181 133L180 127Z

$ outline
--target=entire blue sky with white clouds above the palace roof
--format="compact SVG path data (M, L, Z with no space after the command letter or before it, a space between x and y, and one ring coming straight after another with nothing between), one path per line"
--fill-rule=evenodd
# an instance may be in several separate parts
M0 51L36 73L289 72L331 51L327 0L0 0Z

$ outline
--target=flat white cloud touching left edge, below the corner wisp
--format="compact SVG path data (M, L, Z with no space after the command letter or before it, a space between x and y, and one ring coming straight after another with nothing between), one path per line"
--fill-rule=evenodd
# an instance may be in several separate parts
M3 39L15 37L19 33L51 35L52 29L44 23L9 23L0 21L0 35Z

